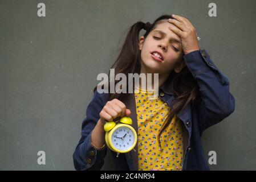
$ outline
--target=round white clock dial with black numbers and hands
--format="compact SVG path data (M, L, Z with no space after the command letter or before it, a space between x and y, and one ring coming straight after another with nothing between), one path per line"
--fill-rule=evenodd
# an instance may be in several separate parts
M125 126L117 128L111 136L112 144L117 150L128 150L134 139L132 130Z

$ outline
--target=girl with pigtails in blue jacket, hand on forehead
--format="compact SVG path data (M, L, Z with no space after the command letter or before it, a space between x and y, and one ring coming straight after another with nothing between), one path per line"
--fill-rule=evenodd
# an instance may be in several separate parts
M199 48L192 23L162 15L153 24L133 24L111 68L127 77L159 73L159 96L149 99L153 92L141 85L139 92L121 94L100 94L95 87L73 154L75 169L101 169L107 152L103 126L127 115L138 140L135 150L118 158L111 151L117 170L209 170L202 132L233 113L235 101L227 77Z

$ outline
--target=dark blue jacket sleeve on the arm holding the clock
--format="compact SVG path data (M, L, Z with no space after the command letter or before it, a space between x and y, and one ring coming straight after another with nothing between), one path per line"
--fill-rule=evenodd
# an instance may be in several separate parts
M106 94L97 91L87 106L86 118L82 122L81 138L73 154L74 167L76 170L100 170L104 164L107 147L96 148L91 144L91 133L100 118L100 111L105 105Z

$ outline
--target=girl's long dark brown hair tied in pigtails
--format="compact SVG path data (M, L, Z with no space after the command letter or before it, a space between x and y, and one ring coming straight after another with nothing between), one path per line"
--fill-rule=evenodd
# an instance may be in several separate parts
M143 28L146 30L145 34L143 35L144 38L146 39L148 34L152 30L154 30L158 24L163 22L162 20L166 20L169 18L172 18L172 16L162 15L159 18L157 18L153 24L136 22L129 28L124 44L121 47L121 52L117 57L117 59L115 60L115 63L113 63L113 65L111 66L111 68L115 69L115 75L118 73L124 73L125 76L127 76L128 78L128 73L140 74L141 51L139 50L139 44L138 44L140 31ZM109 77L109 73L108 73L108 77ZM161 147L160 135L166 129L166 127L168 127L174 115L181 112L186 107L186 105L188 105L190 102L193 105L200 99L200 92L198 90L197 82L193 78L192 74L190 73L186 65L182 69L182 71L179 73L176 73L174 71L170 72L170 77L172 77L172 81L170 82L170 90L172 90L172 92L174 93L174 100L172 102L172 105L170 106L168 117L166 118L164 125L162 125L158 135L160 147ZM119 81L115 80L115 84L117 82ZM127 82L127 88L128 88L128 82ZM96 91L96 89L97 89L97 86L95 86L94 92ZM113 98L117 98L121 100L121 98L124 95L125 94L122 94L122 93L120 94L112 93L110 94L109 100L112 100Z

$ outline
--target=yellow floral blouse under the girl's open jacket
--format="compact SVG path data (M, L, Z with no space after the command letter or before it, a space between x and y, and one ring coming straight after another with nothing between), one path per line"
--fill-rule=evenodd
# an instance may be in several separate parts
M154 93L137 88L135 92L138 124L138 169L143 170L181 170L183 160L182 122L178 117L160 136L161 147L157 140L162 123L165 121L169 106Z

